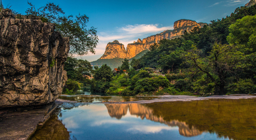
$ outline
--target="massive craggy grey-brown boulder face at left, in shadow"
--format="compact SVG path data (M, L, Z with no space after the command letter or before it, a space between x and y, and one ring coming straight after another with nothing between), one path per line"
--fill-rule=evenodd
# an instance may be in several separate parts
M63 70L69 39L54 25L0 13L0 107L40 105L54 101L67 81ZM51 66L50 66L51 65Z

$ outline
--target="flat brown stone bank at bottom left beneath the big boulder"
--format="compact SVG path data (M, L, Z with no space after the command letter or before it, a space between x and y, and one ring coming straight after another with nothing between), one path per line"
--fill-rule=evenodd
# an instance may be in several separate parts
M51 113L60 104L62 102L55 101L34 109L32 107L2 109L0 111L0 139L28 139L38 126L47 122Z

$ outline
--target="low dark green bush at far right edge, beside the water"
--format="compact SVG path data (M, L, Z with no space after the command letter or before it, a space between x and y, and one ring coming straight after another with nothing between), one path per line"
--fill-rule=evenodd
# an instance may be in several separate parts
M251 79L241 79L227 88L228 94L256 94L256 85Z

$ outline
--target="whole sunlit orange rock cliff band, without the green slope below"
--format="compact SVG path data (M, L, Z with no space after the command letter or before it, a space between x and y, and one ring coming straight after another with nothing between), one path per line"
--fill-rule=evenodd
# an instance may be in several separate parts
M174 30L166 30L162 33L152 35L147 38L138 39L137 42L133 42L127 45L126 51L124 45L117 40L109 42L106 45L105 53L100 59L113 59L113 58L133 58L140 52L148 50L151 45L157 43L162 39L174 39L180 37L184 31L191 31L195 27L202 28L206 23L197 23L193 20L181 19L174 22Z

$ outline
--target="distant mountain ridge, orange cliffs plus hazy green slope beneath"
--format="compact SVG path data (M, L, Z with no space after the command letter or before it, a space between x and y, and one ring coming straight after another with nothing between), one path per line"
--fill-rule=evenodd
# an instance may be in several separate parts
M146 38L138 39L133 43L127 44L125 50L124 45L118 40L109 42L106 45L105 53L96 61L91 62L92 66L101 66L103 64L109 65L112 69L122 64L124 58L140 58L150 48L151 45L157 43L162 39L174 39L183 35L184 31L191 31L195 27L202 28L206 23L197 23L194 20L180 19L174 22L174 30L166 30L156 35L152 35Z

